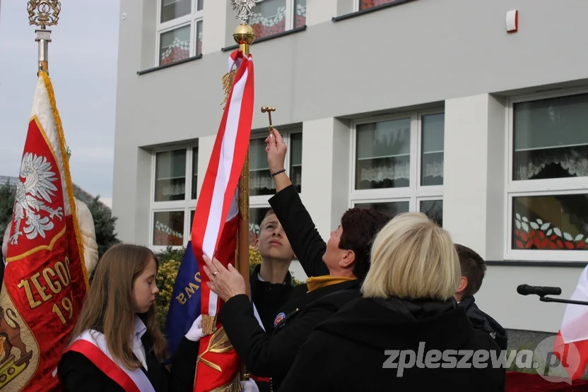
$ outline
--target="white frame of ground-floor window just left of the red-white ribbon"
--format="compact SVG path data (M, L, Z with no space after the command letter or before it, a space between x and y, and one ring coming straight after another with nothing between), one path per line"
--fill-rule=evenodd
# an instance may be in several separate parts
M183 234L183 244L181 247L186 247L189 241L189 233L190 231L190 213L192 210L196 210L196 202L197 198L192 198L192 165L194 162L194 148L198 147L198 141L194 141L192 143L182 144L182 145L167 145L165 147L160 148L153 148L151 151L151 191L149 192L149 248L152 249L155 253L160 251L164 251L167 246L162 245L154 245L153 239L155 239L155 230L153 225L155 225L155 213L164 213L164 212L177 212L183 211L184 212L184 232ZM157 167L157 154L158 153L165 153L168 151L175 151L175 150L185 150L186 151L186 167L185 167L185 174L186 174L186 195L184 196L184 200L176 200L176 201L155 201L155 168ZM198 164L196 162L196 167ZM198 186L198 184L196 184ZM199 189L196 189L196 194L198 194ZM172 249L180 249L180 245L173 245L171 246Z

